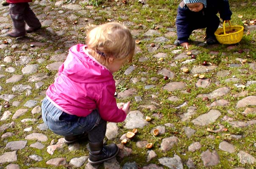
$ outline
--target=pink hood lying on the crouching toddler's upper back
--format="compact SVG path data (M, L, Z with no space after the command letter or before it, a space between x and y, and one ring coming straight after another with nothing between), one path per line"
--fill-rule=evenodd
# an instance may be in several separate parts
M98 83L113 80L113 75L109 69L89 55L85 47L84 44L77 44L70 48L67 59L63 64L64 74L72 81L79 83Z

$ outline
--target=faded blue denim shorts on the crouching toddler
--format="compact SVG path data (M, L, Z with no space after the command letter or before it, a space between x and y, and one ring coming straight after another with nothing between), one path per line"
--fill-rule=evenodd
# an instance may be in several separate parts
M45 125L55 134L61 136L83 134L97 126L101 119L97 109L93 110L86 117L70 115L72 117L71 120L61 118L63 114L65 114L66 117L69 115L54 106L47 98L44 98L42 102L42 119Z

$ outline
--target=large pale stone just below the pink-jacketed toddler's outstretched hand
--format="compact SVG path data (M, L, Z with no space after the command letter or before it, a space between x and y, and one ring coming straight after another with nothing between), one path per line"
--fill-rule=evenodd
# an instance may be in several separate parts
M125 128L133 129L133 128L143 128L145 125L149 123L145 120L142 112L136 110L131 111L126 119L125 119Z

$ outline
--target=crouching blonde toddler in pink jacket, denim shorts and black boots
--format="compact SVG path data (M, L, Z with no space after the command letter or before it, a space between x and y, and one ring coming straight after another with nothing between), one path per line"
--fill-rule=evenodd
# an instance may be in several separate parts
M86 45L70 48L42 102L44 123L67 144L88 137L90 164L119 151L116 144L103 145L107 121L122 122L130 112L130 102L117 107L112 73L131 62L135 46L130 30L119 23L91 26Z

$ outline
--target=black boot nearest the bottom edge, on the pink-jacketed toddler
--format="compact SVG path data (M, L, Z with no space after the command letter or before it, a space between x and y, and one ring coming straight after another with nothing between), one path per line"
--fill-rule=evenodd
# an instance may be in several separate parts
M89 159L88 162L92 165L101 164L104 161L114 158L119 152L116 144L104 145L103 142L89 142Z

